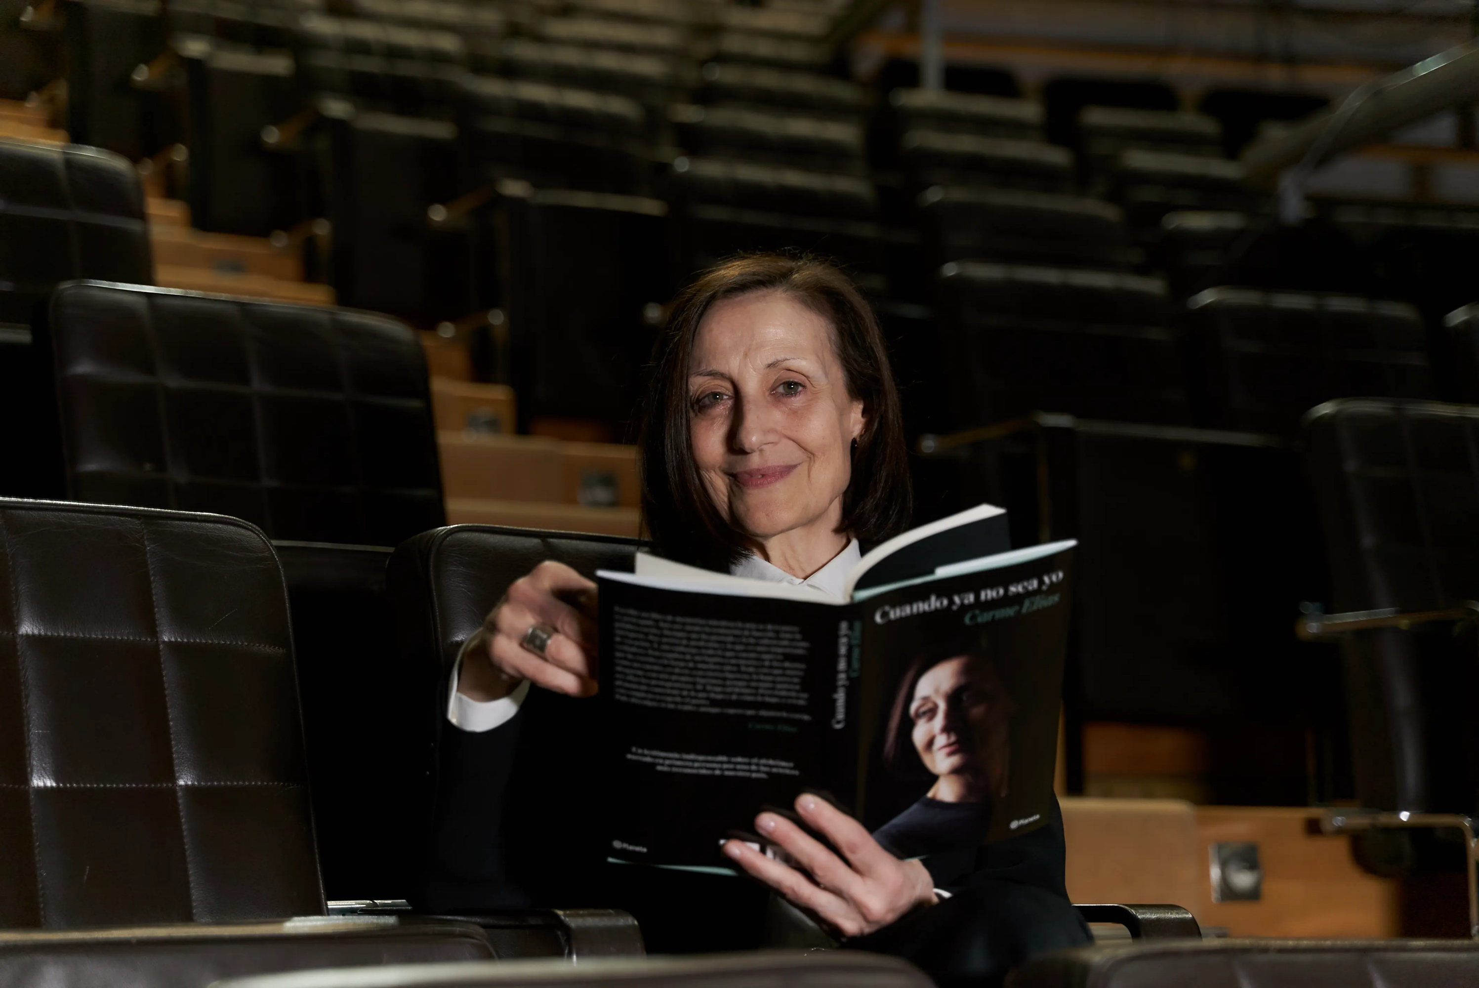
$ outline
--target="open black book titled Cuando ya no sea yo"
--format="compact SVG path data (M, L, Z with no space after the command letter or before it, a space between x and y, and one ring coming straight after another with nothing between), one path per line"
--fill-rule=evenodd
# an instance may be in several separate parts
M649 555L598 572L608 855L728 871L803 788L901 858L1049 818L1074 543L1007 547L981 504L868 552L846 598Z

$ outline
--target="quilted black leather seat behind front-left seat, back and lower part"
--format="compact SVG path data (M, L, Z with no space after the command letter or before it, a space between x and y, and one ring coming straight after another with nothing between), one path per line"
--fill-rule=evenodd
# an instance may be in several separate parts
M444 519L416 334L364 312L98 282L56 291L47 334L70 497L220 512L290 540L325 887L405 898L377 833L414 808L374 782L410 757L389 546Z

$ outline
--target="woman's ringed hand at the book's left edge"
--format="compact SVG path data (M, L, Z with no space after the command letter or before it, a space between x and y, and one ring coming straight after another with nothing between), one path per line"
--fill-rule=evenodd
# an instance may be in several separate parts
M524 648L534 624L555 629L544 655ZM561 562L541 562L509 586L463 654L457 692L487 703L528 679L568 697L596 692L596 584Z

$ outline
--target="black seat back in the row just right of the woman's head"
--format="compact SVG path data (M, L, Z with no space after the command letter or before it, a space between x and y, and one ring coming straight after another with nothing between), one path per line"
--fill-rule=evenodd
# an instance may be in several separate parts
M939 294L961 426L1029 411L1189 422L1164 282L967 260L941 269Z

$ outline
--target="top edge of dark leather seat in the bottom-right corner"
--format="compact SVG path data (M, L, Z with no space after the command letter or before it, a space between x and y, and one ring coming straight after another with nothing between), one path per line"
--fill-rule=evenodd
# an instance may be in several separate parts
M1007 988L1429 988L1479 978L1470 941L1170 941L1028 961Z

